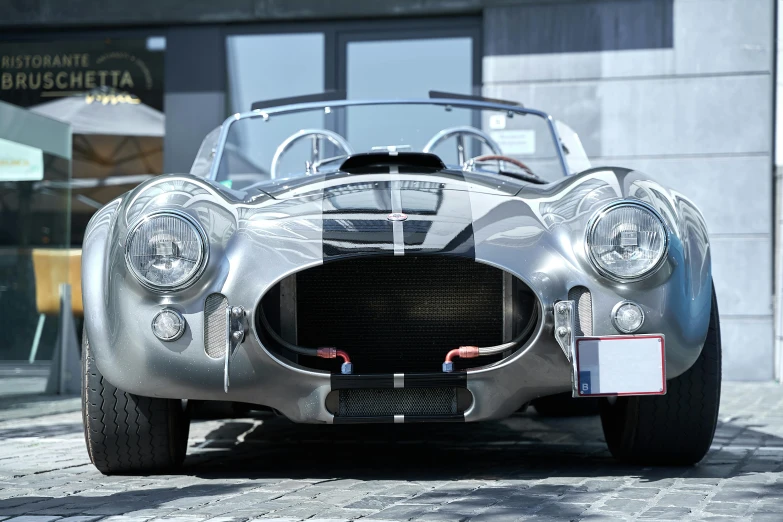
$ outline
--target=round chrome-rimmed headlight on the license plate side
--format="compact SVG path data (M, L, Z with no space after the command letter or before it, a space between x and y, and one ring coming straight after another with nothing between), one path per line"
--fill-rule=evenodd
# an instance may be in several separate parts
M587 229L590 260L606 277L635 281L651 274L666 256L663 220L643 203L624 201L601 210Z

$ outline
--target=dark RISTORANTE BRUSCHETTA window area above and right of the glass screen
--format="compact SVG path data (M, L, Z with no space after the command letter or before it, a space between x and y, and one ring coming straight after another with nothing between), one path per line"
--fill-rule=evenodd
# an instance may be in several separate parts
M92 214L163 172L165 38L0 44L0 100L73 128L71 244Z

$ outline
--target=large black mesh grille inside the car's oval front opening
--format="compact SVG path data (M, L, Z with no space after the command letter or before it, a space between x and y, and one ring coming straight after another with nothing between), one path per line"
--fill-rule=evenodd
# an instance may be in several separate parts
M298 344L345 350L357 373L440 372L453 348L502 342L502 290L502 271L464 258L327 263L297 274ZM331 360L299 362L339 371ZM457 361L468 366L476 360Z

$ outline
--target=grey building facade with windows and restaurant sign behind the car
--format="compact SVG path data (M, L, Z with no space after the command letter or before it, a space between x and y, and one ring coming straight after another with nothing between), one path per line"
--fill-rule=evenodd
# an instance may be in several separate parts
M203 136L255 100L443 90L545 110L579 133L593 165L646 171L696 201L711 232L724 376L769 380L783 364L778 11L775 0L5 2L0 100L129 96L160 113L162 131L126 131L141 159L105 176L188 171ZM74 200L72 243L112 194Z

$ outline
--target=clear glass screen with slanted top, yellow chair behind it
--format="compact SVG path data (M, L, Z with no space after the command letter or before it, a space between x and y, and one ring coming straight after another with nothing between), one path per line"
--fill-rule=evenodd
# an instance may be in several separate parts
M72 261L70 135L0 102L0 360L51 358Z

